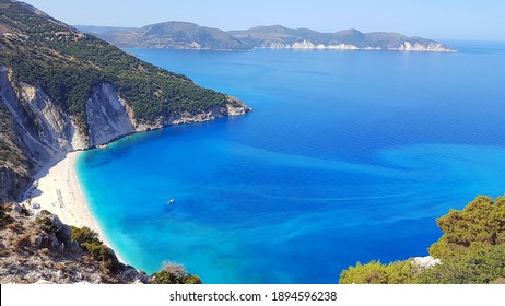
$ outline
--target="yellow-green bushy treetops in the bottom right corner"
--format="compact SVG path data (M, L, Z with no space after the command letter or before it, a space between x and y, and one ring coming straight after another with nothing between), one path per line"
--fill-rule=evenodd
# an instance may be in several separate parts
M479 196L463 210L437 220L443 236L428 252L441 263L420 267L414 259L349 267L340 283L482 284L505 282L505 197Z

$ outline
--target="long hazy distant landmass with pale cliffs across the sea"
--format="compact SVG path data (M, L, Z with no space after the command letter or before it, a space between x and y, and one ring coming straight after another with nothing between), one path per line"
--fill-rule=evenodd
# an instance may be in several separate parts
M222 31L189 22L171 21L143 27L111 27L75 25L119 48L160 48L247 51L271 49L333 49L333 50L395 50L453 52L438 42L407 37L398 33L362 33L345 30L319 33L308 28L287 28L282 25L256 26L242 31Z

